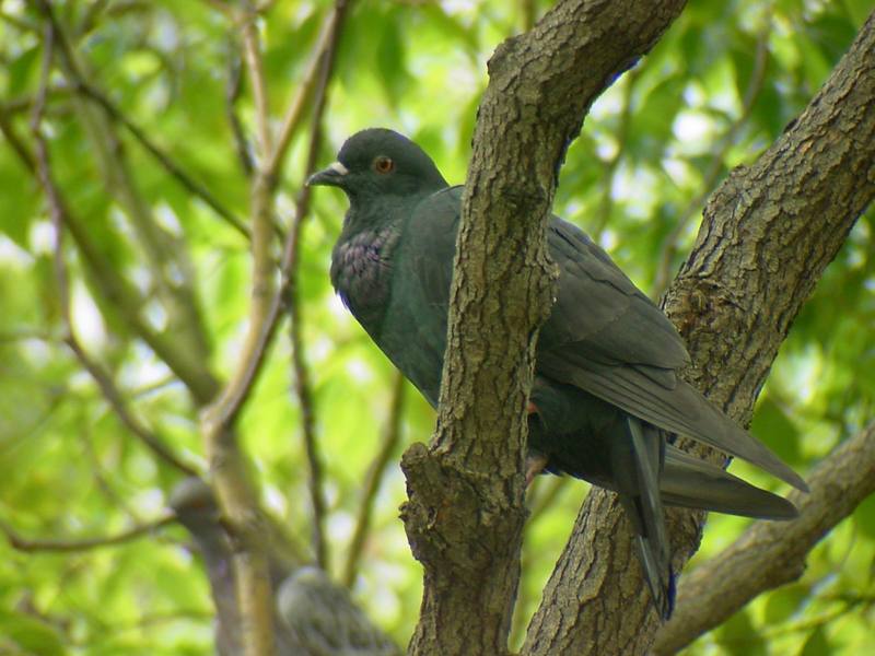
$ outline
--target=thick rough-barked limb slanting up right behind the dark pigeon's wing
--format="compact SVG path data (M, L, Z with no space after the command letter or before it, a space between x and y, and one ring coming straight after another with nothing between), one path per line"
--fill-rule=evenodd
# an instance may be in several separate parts
M875 14L795 124L712 195L692 254L665 300L697 363L688 378L737 421L749 420L791 323L875 196L873 97ZM695 450L725 461L703 447ZM620 516L611 494L588 495L532 621L525 654L641 654L650 647L657 621L641 594L629 541L616 539ZM670 513L676 570L698 548L701 523L701 514ZM779 534L790 531L782 526Z

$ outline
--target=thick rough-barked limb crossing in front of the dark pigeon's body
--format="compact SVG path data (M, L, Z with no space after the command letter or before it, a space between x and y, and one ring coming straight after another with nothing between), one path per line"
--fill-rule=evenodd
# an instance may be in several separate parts
M410 654L506 653L525 519L525 406L551 298L544 227L559 164L592 101L682 5L560 2L489 62L436 434L430 448L415 445L402 461L402 516L425 570Z

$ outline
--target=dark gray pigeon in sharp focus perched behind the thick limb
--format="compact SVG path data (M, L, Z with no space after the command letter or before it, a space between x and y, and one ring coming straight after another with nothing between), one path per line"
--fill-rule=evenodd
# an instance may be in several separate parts
M436 407L463 188L450 187L416 143L378 128L353 134L308 184L339 187L349 198L331 259L337 293ZM786 500L667 444L668 433L807 488L677 376L689 362L680 336L602 248L557 216L547 243L560 276L538 340L526 478L564 472L617 492L656 609L667 618L674 581L663 503L796 516Z

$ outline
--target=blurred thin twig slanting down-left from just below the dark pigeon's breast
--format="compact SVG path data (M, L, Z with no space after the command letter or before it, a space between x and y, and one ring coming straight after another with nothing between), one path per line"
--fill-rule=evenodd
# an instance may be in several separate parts
M380 450L374 456L371 467L368 469L368 478L362 490L362 501L359 505L359 516L355 520L355 530L352 532L352 540L349 544L347 563L343 566L341 583L351 587L355 582L359 572L362 550L368 532L371 529L371 516L374 511L374 502L383 482L383 475L392 456L397 452L401 441L401 418L404 415L404 394L405 378L400 373L395 374L395 382L392 386L392 405L389 406L389 417L383 431L383 440Z

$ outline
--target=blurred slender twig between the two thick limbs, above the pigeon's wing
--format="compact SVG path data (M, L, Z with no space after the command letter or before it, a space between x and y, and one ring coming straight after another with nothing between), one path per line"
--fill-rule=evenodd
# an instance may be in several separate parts
M744 124L747 122L750 112L754 109L754 104L757 102L757 98L762 91L762 85L766 81L766 68L769 62L769 34L771 32L771 16L767 16L766 23L757 35L757 49L754 56L754 70L750 73L750 80L748 81L747 89L745 89L744 98L742 99L742 113L738 115L738 118L733 121L733 124L723 134L723 138L720 140L720 145L718 147L714 156L711 157L711 161L704 171L704 175L702 176L702 181L699 185L699 188L702 189L702 191L690 199L690 201L680 212L675 226L665 237L662 256L660 257L660 262L656 266L656 274L653 280L652 296L654 298L661 296L668 286L668 283L672 280L672 262L677 257L680 237L687 230L687 226L692 216L697 213L697 210L701 209L705 198L716 184L720 173L723 169L723 162L726 157L726 153L735 144L735 139L738 134L738 131L742 129Z

